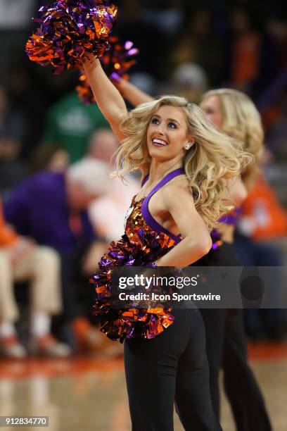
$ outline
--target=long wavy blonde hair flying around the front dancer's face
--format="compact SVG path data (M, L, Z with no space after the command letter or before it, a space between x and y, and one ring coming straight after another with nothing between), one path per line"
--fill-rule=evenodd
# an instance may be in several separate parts
M242 144L219 132L198 106L189 104L183 97L163 96L141 104L125 115L121 129L127 137L117 151L113 176L123 178L139 169L143 176L148 173L151 156L147 130L160 106L181 108L186 115L187 134L194 137L195 144L186 151L183 168L196 209L211 230L222 214L234 208L232 201L222 197L227 189L226 180L238 177L251 157L243 151Z

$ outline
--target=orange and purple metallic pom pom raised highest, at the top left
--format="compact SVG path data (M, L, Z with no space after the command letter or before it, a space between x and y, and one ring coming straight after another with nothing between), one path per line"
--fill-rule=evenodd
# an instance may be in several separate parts
M53 73L80 68L89 54L101 57L108 49L108 35L117 7L108 1L58 0L42 6L39 23L26 44L31 61L52 65Z

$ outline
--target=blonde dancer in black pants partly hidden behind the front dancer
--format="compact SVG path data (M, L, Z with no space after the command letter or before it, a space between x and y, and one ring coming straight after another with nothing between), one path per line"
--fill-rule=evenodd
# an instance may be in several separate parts
M152 101L153 98L130 82L117 83L122 95L132 105ZM254 163L243 168L241 178L229 183L229 192L236 206L244 201L248 190L260 171L264 133L260 114L253 101L234 89L217 89L203 94L200 108L217 129L225 132L253 156ZM234 230L238 211L231 211L219 219L220 225L212 232L213 247L194 266L240 266L234 247ZM221 244L217 246L217 244ZM205 323L206 346L210 365L212 404L219 418L219 368L224 370L224 388L234 413L238 431L269 431L271 425L264 400L255 376L248 366L248 357L241 310L200 310Z

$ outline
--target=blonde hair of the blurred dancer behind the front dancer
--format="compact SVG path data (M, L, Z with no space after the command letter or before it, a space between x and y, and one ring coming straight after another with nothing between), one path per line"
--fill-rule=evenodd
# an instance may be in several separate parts
M242 179L246 187L252 187L255 177L260 172L260 159L263 152L264 131L255 104L243 92L236 89L222 88L203 94L200 106L212 96L219 98L223 123L222 132L243 143L243 149L252 154L255 163L243 170Z

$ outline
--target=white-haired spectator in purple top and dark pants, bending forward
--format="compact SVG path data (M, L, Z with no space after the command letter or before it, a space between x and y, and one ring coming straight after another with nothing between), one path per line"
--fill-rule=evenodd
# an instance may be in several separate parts
M87 277L106 247L96 242L87 207L101 196L107 177L106 165L95 160L84 170L72 166L67 173L39 173L19 185L5 205L6 219L20 235L60 254L64 309L58 328L72 322L75 342L87 349L99 349L103 340L86 318L93 303ZM87 268L91 261L93 268Z

